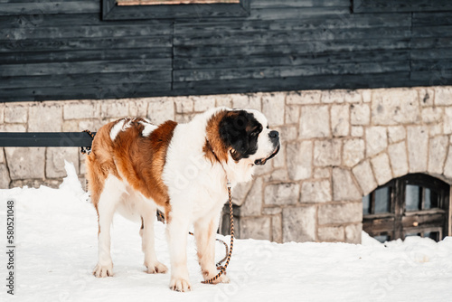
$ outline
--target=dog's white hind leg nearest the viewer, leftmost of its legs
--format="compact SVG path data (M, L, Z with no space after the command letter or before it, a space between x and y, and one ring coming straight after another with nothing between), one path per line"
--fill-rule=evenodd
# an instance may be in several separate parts
M99 196L99 260L93 271L98 278L113 276L113 262L110 256L110 227L113 215L125 193L124 184L117 177L109 175Z

